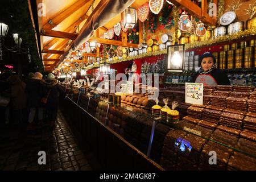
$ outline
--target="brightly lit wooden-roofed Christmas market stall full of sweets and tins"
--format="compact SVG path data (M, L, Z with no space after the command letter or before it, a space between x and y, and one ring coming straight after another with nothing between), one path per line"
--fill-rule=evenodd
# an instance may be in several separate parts
M92 163L256 169L254 0L48 3L44 69L68 94L61 110ZM205 54L228 84L207 80Z

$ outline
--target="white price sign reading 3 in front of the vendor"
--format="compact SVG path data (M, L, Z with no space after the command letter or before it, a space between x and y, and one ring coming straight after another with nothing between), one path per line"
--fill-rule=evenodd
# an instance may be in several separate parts
M204 84L186 83L185 102L190 104L203 105Z

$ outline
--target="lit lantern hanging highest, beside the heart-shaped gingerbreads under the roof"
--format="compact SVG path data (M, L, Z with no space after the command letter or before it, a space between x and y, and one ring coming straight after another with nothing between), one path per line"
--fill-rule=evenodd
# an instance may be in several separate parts
M137 13L136 9L133 7L128 7L125 10L123 23L125 24L125 28L134 28L137 22Z

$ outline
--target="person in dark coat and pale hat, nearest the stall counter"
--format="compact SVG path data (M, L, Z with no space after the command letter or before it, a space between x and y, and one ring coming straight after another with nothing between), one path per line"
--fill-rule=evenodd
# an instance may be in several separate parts
M59 95L62 94L65 96L64 90L58 84L58 80L55 79L55 76L52 73L47 75L46 81L43 81L43 97L47 97L47 103L45 105L46 112L48 114L48 121L50 122L51 127L55 126L55 121L57 118L57 110L59 107Z

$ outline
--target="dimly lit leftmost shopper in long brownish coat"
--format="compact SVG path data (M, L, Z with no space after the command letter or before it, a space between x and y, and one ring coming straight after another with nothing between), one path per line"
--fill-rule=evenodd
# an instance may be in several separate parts
M26 84L20 80L18 75L11 75L7 81L11 85L11 109L15 113L15 122L22 122L23 119L23 109L26 108Z

